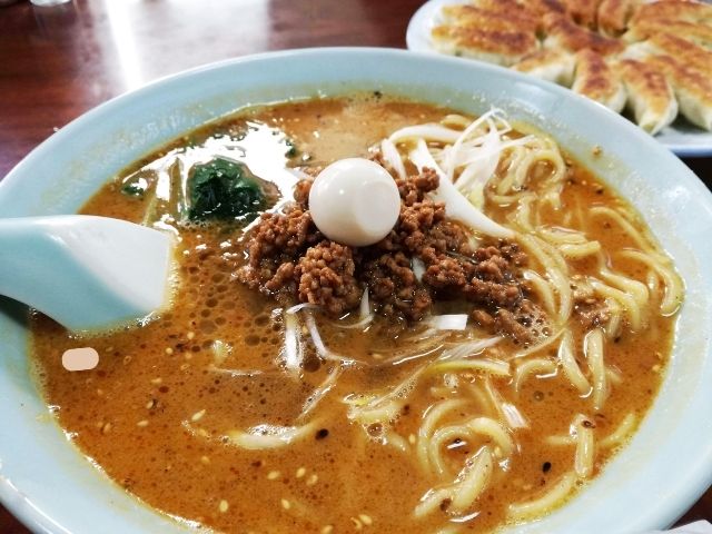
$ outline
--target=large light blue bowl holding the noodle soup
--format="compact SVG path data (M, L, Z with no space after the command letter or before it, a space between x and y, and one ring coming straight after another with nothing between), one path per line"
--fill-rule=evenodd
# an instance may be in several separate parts
M617 115L546 82L397 50L268 53L184 72L119 97L33 150L0 185L0 216L75 212L128 164L244 106L382 90L481 113L491 106L551 132L643 214L688 295L671 370L631 445L570 504L520 533L631 534L671 524L712 482L712 196ZM603 155L594 158L592 148ZM71 303L68 303L71 305ZM48 416L30 379L24 310L0 301L0 500L36 532L187 528L128 496Z

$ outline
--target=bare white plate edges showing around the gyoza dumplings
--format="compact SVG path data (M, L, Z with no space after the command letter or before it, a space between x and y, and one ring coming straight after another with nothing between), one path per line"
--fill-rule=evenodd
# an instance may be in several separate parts
M437 52L431 44L431 30L437 24L441 8L446 4L465 3L464 0L428 0L418 9L406 33L408 50L416 52ZM463 61L477 61L461 58ZM655 136L661 144L681 157L712 156L712 131L704 131L690 125L685 119L675 120Z

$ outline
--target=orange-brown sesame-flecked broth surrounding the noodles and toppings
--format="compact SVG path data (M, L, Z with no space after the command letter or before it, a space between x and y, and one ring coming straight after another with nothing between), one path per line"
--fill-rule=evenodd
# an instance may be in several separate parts
M368 156L369 147L394 130L438 121L448 112L380 96L250 109L208 125L136 164L99 190L81 212L139 222L147 209L160 211L170 202L150 207L148 200L122 195L125 177L141 171L148 176L158 167L170 168L177 159L189 167L234 149L240 136L243 145L251 142L247 151L258 152L276 167L322 166L344 157ZM298 147L291 158L285 156L287 138ZM543 209L540 222L584 230L590 240L601 244L616 273L647 285L652 301L659 301L664 288L652 280L649 267L615 254L640 249L640 244L610 217L589 215L595 206L630 211L627 204L580 165L570 161L567 167L562 207ZM284 192L289 180L277 185ZM494 220L505 224L511 212L510 206L487 201L486 214ZM180 237L175 306L142 326L86 338L34 315L37 374L48 405L72 443L113 481L159 511L218 531L429 533L452 526L490 532L518 521L508 512L512 503L537 498L572 472L576 445L552 443L552 436L568 436L576 414L585 414L586 427L597 444L630 423L622 439L596 446L591 474L595 476L650 408L671 350L674 316L651 313L647 326L635 333L624 320L620 333L605 343L612 382L600 411L592 408L590 395L580 395L563 376L561 366L553 373L534 373L518 390L513 374L490 376L491 387L518 408L527 427L512 432L515 451L466 514L454 517L437 510L416 517L414 508L422 497L443 484L424 472L416 457L424 414L436 403L455 398L451 397L453 387L481 384L482 374L454 373L456 386L444 383L437 373L418 379L394 417L392 432L403 437L404 452L384 443L383 428L364 428L349 419L344 399L393 390L419 368L422 358L398 365L383 362L383 355L397 348L411 330L392 335L384 326L387 319L376 319L376 326L363 333L335 327L317 315L325 343L363 365L344 370L309 416L297 422L304 404L330 376L335 364L317 360L294 376L278 365L284 307L235 279L245 263L245 236L239 227L178 225L170 217L160 220L175 227ZM633 225L646 236L639 222ZM582 276L599 270L591 256L570 266ZM586 330L574 319L570 328L576 359L583 365ZM69 373L62 368L61 354L78 346L99 352L96 369ZM534 356L556 358L557 347L553 343ZM518 360L512 356L522 348L503 339L485 355L514 367ZM439 424L477 416L474 406L464 402ZM263 424L306 426L305 434L288 447L245 449L225 437L234 429ZM444 458L451 478L478 443L448 443ZM577 481L575 486L581 484Z

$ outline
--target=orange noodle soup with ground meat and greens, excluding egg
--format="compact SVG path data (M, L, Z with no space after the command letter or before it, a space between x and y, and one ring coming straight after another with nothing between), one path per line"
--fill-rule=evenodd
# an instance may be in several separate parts
M395 234L404 210L418 222L344 250L309 226L304 192L357 156L398 179ZM637 427L682 300L630 205L496 110L473 121L382 95L254 108L139 161L82 212L174 233L180 281L169 312L81 340L36 315L47 402L127 491L225 532L490 532L550 512ZM78 343L96 369L62 369Z

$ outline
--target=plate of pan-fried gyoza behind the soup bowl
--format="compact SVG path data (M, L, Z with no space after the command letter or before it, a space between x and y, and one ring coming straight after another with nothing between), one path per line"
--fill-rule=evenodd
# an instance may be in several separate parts
M622 113L679 156L712 155L712 4L429 0L408 49L500 65Z

